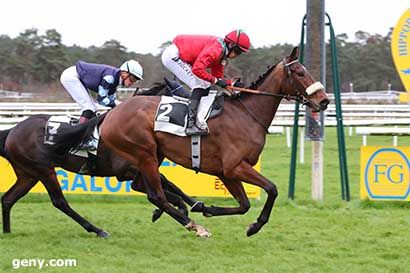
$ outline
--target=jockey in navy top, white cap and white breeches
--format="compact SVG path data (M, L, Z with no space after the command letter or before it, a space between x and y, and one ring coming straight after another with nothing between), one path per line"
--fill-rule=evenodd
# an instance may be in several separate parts
M143 70L135 60L126 61L120 68L78 61L60 77L61 84L81 106L80 123L94 117L97 110L88 90L98 93L98 104L112 108L118 103L115 96L118 85L130 87L139 80L143 80Z

